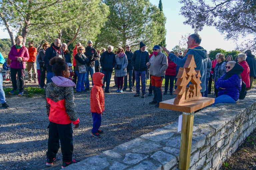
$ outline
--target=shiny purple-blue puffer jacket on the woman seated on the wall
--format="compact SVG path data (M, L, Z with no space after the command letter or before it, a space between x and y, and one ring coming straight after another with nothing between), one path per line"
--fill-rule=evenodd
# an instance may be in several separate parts
M218 96L226 94L237 101L239 99L239 90L241 90L242 86L242 79L239 79L237 74L232 75L227 80L224 80L223 76L216 81L216 88L219 90ZM225 89L220 89L220 87Z

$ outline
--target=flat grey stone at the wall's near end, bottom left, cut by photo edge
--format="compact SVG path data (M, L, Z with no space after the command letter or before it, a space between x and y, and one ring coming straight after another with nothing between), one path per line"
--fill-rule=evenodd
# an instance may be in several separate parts
M100 162L100 163L99 163ZM109 166L110 164L107 161L107 158L100 156L92 156L89 157L81 162L71 164L65 168L65 170L91 170L91 169L97 169L102 170Z

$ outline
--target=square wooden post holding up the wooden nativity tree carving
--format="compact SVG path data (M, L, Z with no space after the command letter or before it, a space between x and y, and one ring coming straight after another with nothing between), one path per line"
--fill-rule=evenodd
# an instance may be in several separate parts
M179 169L188 170L192 144L194 112L182 114Z

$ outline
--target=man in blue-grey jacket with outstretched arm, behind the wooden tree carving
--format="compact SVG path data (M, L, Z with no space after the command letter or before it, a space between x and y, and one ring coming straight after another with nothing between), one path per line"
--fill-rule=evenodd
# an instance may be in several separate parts
M210 68L212 66L212 63L208 59L207 51L203 47L200 46L201 40L202 39L199 36L199 34L191 34L188 37L188 41L187 41L188 51L187 51L186 56L183 59L178 58L173 53L170 53L165 47L163 47L163 50L168 54L169 58L180 67L184 66L184 64L187 60L188 54L194 55L194 59L195 59L195 63L196 63L195 70L200 70L200 74L202 76L202 77L200 77L200 80L201 80L200 85L202 87L200 92L202 93L202 96L203 96L203 92L206 90L207 68Z

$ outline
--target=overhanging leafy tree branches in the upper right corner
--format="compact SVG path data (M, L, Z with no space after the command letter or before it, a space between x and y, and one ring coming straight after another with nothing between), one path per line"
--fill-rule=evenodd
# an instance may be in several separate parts
M240 37L251 39L237 46L237 50L256 48L256 1L255 0L180 0L183 6L181 15L186 18L184 24L190 25L195 32L203 27L214 26L228 40L238 40Z

